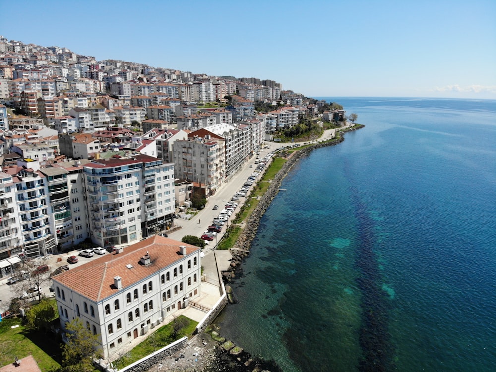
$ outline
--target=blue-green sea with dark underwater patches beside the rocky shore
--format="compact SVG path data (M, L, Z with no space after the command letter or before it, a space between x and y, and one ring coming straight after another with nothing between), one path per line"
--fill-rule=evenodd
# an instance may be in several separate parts
M496 101L321 97L220 333L281 371L496 371Z

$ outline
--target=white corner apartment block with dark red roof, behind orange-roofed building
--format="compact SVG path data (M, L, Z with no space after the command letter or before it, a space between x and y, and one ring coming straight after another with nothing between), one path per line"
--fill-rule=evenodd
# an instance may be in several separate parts
M95 159L83 168L94 243L129 245L172 223L173 164L139 154Z

